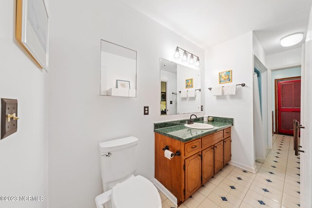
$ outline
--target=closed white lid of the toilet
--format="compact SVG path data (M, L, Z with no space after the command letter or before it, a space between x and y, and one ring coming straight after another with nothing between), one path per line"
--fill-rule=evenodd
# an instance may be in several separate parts
M112 203L115 208L161 208L156 187L140 175L116 185L112 190Z

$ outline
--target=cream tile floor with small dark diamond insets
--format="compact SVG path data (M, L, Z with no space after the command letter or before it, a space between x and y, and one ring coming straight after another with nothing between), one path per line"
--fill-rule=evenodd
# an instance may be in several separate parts
M257 173L225 166L179 208L299 208L300 159L293 137L273 135L273 149ZM176 208L160 193L162 208Z

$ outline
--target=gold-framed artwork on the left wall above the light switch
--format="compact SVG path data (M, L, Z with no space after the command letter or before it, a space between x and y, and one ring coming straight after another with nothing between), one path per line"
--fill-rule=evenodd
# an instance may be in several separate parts
M44 0L17 0L15 36L39 67L47 72L48 25Z

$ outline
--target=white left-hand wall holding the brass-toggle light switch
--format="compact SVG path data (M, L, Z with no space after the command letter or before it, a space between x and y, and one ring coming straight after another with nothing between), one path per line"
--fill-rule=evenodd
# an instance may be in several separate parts
M0 97L18 99L18 132L0 140L0 195L43 196L43 202L4 202L1 208L47 207L47 74L15 38L16 1L0 6Z

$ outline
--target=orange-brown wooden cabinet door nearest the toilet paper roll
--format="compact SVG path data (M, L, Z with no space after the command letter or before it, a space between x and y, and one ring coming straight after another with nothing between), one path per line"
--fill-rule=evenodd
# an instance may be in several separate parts
M201 154L185 160L185 200L201 187Z

